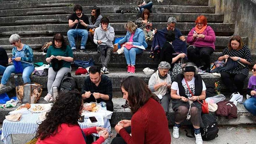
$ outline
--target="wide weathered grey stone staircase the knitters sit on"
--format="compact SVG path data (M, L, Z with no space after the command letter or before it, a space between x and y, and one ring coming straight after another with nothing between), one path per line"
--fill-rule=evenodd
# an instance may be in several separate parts
M55 33L62 33L67 40L68 16L73 13L74 4L80 4L83 6L83 13L90 15L90 9L93 5L97 5L101 8L102 15L106 15L110 19L110 24L115 29L115 37L125 36L124 25L128 20L135 21L140 15L137 12L117 14L116 10L123 9L135 10L136 1L134 0L1 0L0 2L0 46L4 47L11 56L12 47L9 44L9 37L11 34L18 33L22 37L22 42L29 45L34 52L34 62L44 61L45 55L41 53L41 47L45 42L52 40ZM184 0L184 1L169 1L163 0L158 2L153 0L153 8L150 17L153 22L153 27L157 29L163 29L166 27L167 19L170 16L176 17L178 23L176 27L180 29L182 34L186 36L189 31L195 26L195 19L198 15L205 15L210 25L216 33L216 51L211 56L211 61L216 60L220 54L220 51L227 46L230 37L234 33L234 24L223 23L224 15L215 13L214 6L208 6L208 0ZM68 42L68 41L67 41ZM243 42L248 43L248 38L243 37ZM120 106L124 104L120 93L120 83L126 77L134 75L142 78L146 83L150 76L145 75L142 69L145 67L151 67L156 70L159 60L157 58L151 59L150 47L151 43L148 43L149 47L145 52L139 54L136 57L136 73L126 73L126 61L124 54L118 55L113 53L111 61L109 63L110 74L113 83L113 102L114 113L111 120L111 124L116 124L121 119L131 118L129 109L124 111ZM78 47L80 42L78 42ZM99 63L99 55L95 52L95 48L91 42L87 42L86 48L90 53L74 53L74 60L88 60L93 58L96 65ZM253 62L255 62L256 55L253 53ZM77 67L72 65L73 70ZM74 75L74 72L72 72ZM15 79L12 75L8 85L15 87ZM86 76L75 76L74 78L79 83L79 88L83 84L83 79ZM220 77L213 75L202 76L205 83L210 84L215 81L220 81ZM18 77L19 84L22 83L22 77ZM47 77L31 76L31 81L40 83L43 88L47 88ZM248 78L246 79L247 85ZM222 90L225 91L225 87L221 83ZM245 86L246 88L246 86ZM44 92L45 93L45 92ZM44 95L43 95L44 96ZM228 96L227 96L228 97ZM13 109L0 109L0 122L3 121L4 115ZM173 124L173 110L170 108L169 124ZM248 113L243 105L238 105L239 118L235 120L228 120L224 117L219 117L219 124L221 125L240 125L240 124L255 124L255 121L251 120L252 116Z

